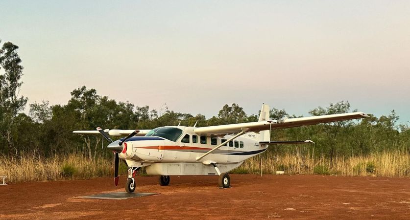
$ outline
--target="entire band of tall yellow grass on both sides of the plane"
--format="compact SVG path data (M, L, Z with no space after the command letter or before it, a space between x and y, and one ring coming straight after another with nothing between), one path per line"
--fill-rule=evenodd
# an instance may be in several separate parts
M297 148L283 153L267 152L246 160L233 173L275 174L330 174L343 176L410 176L410 154L406 151L386 151L367 156L314 158L309 149ZM321 169L317 169L321 168ZM325 172L323 172L323 169ZM326 172L326 169L328 172ZM126 171L120 163L120 173ZM89 160L82 154L44 158L36 155L0 156L0 176L8 182L88 179L113 176L113 161L109 157Z

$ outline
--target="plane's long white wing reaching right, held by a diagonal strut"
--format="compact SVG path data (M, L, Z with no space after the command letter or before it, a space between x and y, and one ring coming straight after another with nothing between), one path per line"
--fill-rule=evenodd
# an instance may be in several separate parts
M269 129L285 129L305 125L315 125L320 123L344 121L369 117L363 112L352 112L343 114L329 114L321 116L286 118L272 121L248 122L230 125L207 126L193 129L193 132L199 135L221 135L226 133L239 133L243 129L247 132L260 132Z

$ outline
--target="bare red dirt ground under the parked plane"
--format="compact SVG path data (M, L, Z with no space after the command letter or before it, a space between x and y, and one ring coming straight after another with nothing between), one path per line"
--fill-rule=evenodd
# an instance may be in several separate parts
M410 179L345 176L138 176L136 192L160 195L126 200L86 199L123 192L113 178L0 186L0 219L410 219Z

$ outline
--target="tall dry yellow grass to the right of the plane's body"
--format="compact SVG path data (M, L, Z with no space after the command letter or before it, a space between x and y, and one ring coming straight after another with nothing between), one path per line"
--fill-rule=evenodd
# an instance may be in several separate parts
M343 176L410 176L410 154L406 151L374 153L368 156L338 157L333 161L328 158L314 158L309 150L303 148L281 154L262 155L262 172L275 174L285 171L287 174L329 174ZM261 156L246 160L234 173L261 172Z

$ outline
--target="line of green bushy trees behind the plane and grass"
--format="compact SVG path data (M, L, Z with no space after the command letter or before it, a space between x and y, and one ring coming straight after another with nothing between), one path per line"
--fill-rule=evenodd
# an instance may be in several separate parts
M0 41L1 43L1 41ZM90 160L97 155L110 154L100 135L78 135L74 130L103 129L153 129L178 125L197 127L223 125L258 120L259 113L246 114L238 104L224 105L218 114L206 118L169 110L164 104L159 110L149 106L135 106L101 96L94 88L75 88L65 105L49 105L48 101L32 103L24 113L27 97L19 95L23 66L18 46L4 43L0 50L0 153L36 153L51 155L81 153ZM309 115L347 113L356 110L350 103L340 101L329 106L310 110ZM335 156L366 155L386 150L405 150L410 153L410 129L407 124L397 124L399 116L392 110L388 115L326 123L307 127L272 130L273 140L305 140L315 142L315 156L330 159ZM284 109L273 108L271 119L300 117ZM269 150L289 151L293 146L277 146Z

